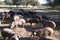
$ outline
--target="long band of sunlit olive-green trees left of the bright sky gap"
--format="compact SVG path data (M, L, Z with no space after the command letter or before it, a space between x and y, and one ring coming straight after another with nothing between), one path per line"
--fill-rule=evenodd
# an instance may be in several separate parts
M5 0L5 3L8 5L32 5L36 6L38 5L38 2L35 0Z

